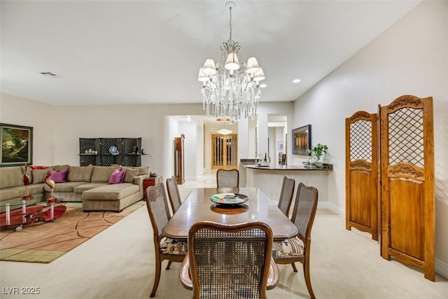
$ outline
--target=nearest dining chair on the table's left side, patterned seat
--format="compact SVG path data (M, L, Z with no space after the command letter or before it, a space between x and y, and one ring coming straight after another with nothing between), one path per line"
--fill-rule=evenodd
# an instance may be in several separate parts
M165 225L167 225L171 218L167 195L165 194L165 186L163 186L162 182L146 189L146 207L148 207L149 218L151 219L151 225L153 225L155 278L150 297L154 297L159 286L162 261L168 260L166 270L169 270L172 262L181 263L183 261L186 257L188 247L186 242L179 242L175 239L163 237L162 235L162 229L165 228Z

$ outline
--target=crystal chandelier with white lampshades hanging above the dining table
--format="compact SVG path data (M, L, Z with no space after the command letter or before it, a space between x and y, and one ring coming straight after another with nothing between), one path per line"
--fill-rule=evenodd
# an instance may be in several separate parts
M238 51L241 48L232 40L232 7L235 3L225 4L230 11L230 39L221 45L221 62L207 58L199 71L197 80L202 81L202 102L207 117L214 113L216 118L229 119L230 123L244 115L256 117L260 99L260 81L265 74L255 57L247 63L239 63Z

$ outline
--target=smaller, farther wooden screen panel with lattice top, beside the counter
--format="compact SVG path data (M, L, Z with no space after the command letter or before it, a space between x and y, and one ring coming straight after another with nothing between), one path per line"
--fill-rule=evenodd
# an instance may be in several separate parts
M346 229L378 240L377 113L358 111L345 120Z

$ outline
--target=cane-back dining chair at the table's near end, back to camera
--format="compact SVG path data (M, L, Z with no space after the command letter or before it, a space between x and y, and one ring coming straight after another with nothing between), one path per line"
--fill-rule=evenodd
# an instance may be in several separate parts
M188 232L181 282L193 289L193 298L266 298L266 290L279 281L271 252L272 230L266 223L200 221Z

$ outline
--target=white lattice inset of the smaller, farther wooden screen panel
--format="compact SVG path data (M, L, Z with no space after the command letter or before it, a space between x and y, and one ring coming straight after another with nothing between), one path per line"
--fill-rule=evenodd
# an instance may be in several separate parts
M372 122L358 120L350 124L350 160L372 162Z

